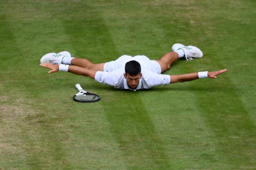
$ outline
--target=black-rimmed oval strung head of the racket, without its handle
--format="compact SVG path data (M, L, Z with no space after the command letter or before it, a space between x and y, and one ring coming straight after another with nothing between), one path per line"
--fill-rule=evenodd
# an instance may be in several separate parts
M77 93L73 96L73 99L76 102L82 102L82 103L89 103L89 102L96 102L100 100L100 96L97 94L85 92L85 93Z

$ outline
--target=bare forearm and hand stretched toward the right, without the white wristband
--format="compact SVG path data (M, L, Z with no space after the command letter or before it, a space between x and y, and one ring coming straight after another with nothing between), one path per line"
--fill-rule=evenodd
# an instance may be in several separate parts
M224 73L227 69L218 70L213 72L208 72L208 78L217 78L217 76L221 73ZM192 81L198 79L198 72L197 73L188 73L188 74L181 74L181 75L171 75L171 82L170 83L180 83L185 81Z

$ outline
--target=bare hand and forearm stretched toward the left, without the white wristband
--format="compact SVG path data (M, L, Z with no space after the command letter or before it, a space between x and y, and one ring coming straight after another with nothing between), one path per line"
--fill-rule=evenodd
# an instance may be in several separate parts
M55 64L51 64L51 63L41 63L40 66L45 67L47 69L51 69L48 72L49 74L59 71L59 65L55 65ZM75 65L69 65L68 72L94 79L97 71L88 70L83 67L78 67Z

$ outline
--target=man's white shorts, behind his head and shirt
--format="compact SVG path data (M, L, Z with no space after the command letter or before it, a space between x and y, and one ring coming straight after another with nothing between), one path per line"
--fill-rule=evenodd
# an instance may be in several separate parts
M107 62L104 64L104 71L114 71L120 68L124 68L125 64L129 61L135 60L140 63L141 69L150 70L154 73L161 74L161 66L155 60L149 60L145 55L136 55L134 57L130 55L122 55L116 61Z

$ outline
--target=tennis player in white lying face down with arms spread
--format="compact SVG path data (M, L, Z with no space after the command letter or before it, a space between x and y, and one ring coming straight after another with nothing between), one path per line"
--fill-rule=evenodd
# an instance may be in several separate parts
M40 66L51 69L49 73L68 71L73 74L95 79L102 84L114 86L116 89L130 89L133 91L149 89L157 85L169 85L170 83L186 82L198 78L217 78L219 74L227 71L196 72L182 75L161 74L170 69L170 66L178 58L187 61L193 58L202 58L202 51L194 46L174 44L172 51L164 54L160 60L150 60L144 55L134 57L123 55L116 61L93 64L84 58L71 57L67 51L49 53L40 60Z

